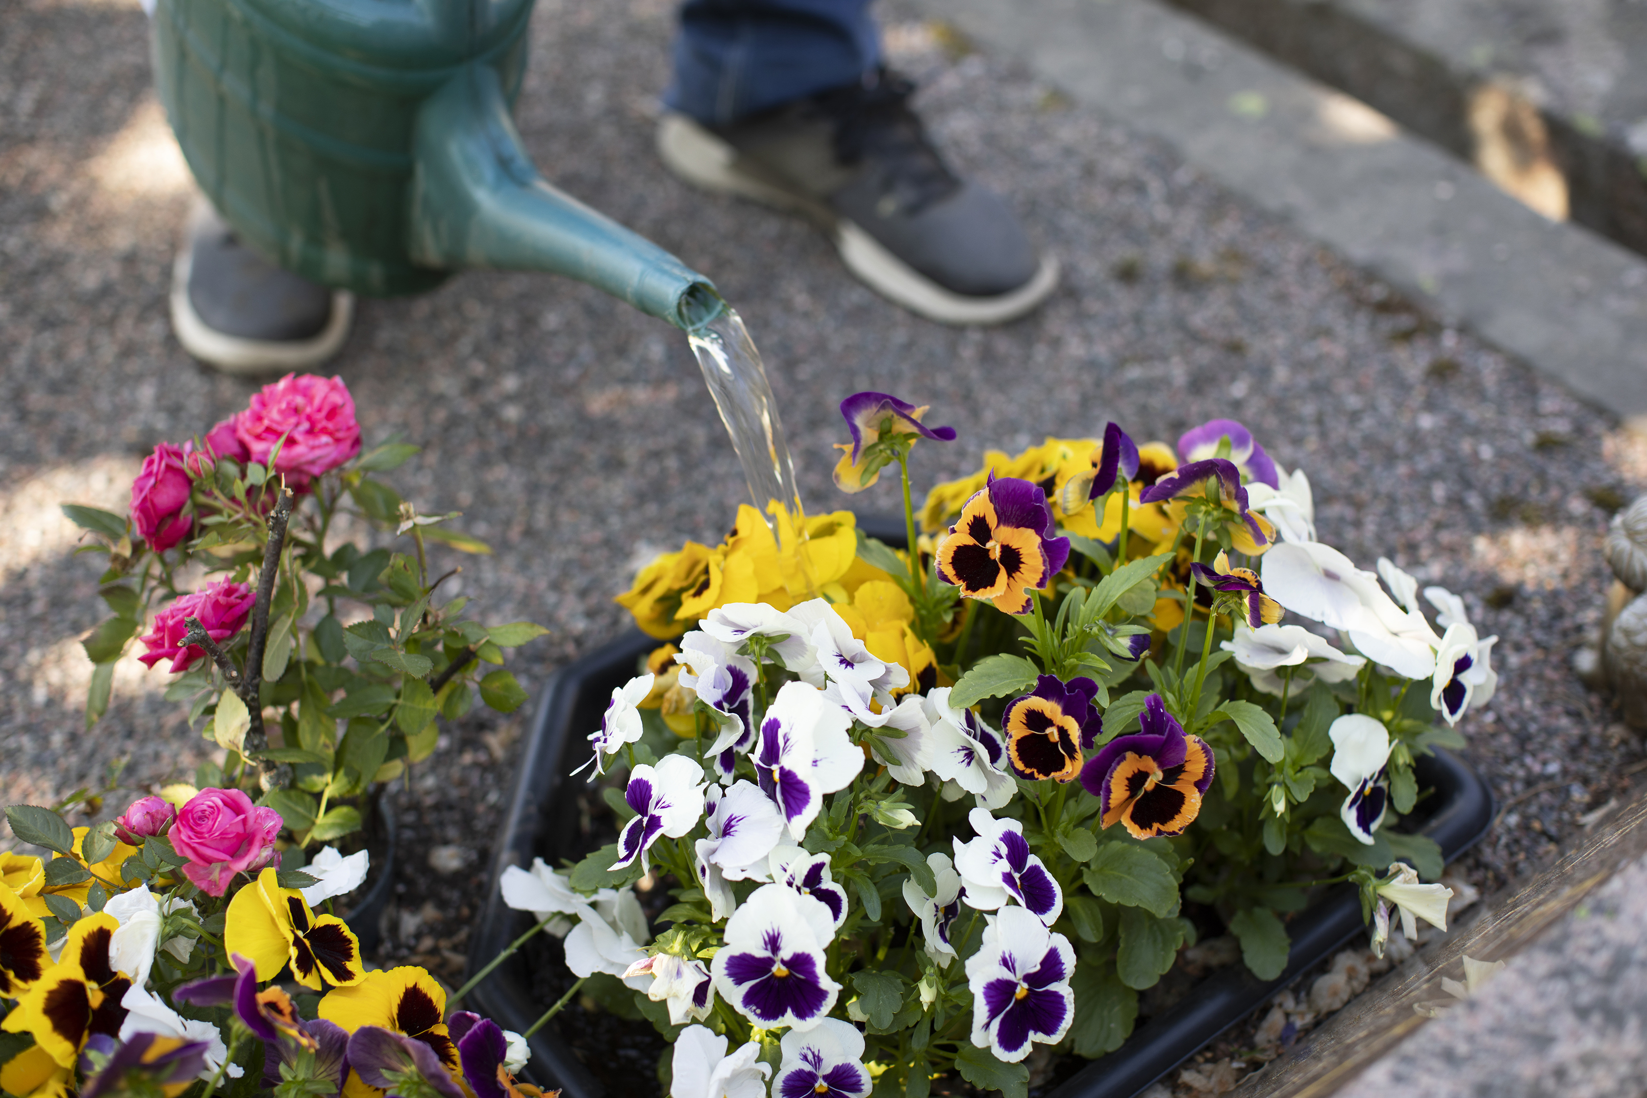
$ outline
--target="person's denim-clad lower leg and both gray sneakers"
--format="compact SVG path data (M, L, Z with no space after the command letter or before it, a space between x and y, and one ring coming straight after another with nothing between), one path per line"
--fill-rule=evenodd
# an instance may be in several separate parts
M945 323L1000 323L1057 281L1006 204L957 176L881 66L871 0L684 0L657 147L687 181L799 211L884 296ZM222 369L305 369L351 301L242 247L201 211L178 260L183 346Z

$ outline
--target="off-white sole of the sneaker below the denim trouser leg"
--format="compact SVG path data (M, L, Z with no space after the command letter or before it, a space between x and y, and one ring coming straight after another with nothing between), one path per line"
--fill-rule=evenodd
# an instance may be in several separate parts
M1034 309L1057 288L1057 258L1043 254L1036 273L1011 293L975 298L945 290L822 202L800 198L741 168L731 145L685 115L670 112L662 117L657 125L657 155L670 171L705 191L740 194L817 221L835 239L835 250L847 270L881 296L940 324L1005 324Z

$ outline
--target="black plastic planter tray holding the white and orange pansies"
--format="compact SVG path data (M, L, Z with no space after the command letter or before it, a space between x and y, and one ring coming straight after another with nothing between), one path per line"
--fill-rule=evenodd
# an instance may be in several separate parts
M884 530L884 540L894 542L893 530L883 523L863 525L873 533ZM903 530L896 533L901 545ZM626 683L636 673L637 660L657 644L631 630L548 680L497 835L486 904L469 950L469 971L478 971L530 925L497 894L504 868L530 866L534 858L558 864L562 858L581 856L583 851L563 848L567 836L576 833L576 798L562 792L567 774L583 762L588 733L600 724L613 688ZM1492 795L1467 762L1446 752L1420 759L1416 770L1420 785L1435 789L1428 798L1433 808L1420 830L1439 843L1443 856L1451 861L1487 833ZM1352 886L1339 886L1288 924L1293 950L1278 979L1260 981L1243 965L1217 971L1181 1003L1133 1031L1118 1050L1082 1068L1052 1098L1133 1098L1359 932L1360 899ZM516 1032L525 1032L548 1006L532 998L530 979L519 965L501 965L471 999L471 1009ZM553 1024L534 1034L530 1044L532 1060L525 1075L539 1086L562 1086L567 1098L601 1098L606 1093Z

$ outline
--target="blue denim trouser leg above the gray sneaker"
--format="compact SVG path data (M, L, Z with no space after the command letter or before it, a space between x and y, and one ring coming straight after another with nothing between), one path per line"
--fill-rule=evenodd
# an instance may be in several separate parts
M850 84L881 63L871 0L685 0L665 102L708 125Z

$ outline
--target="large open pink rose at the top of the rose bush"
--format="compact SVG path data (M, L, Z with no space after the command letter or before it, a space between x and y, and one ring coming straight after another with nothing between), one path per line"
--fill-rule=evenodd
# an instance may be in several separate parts
M331 472L361 453L354 398L341 377L287 374L273 385L264 385L245 412L234 416L234 433L252 461L265 463L285 436L275 472L287 474L292 487Z

